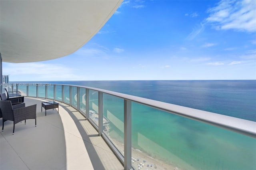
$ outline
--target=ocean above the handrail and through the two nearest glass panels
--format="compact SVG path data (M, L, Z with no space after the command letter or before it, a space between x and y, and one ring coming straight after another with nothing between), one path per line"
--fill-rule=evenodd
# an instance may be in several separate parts
M256 80L36 81L96 87L256 121ZM122 100L104 96L110 136L123 143ZM256 169L256 140L132 103L132 146L182 169ZM120 149L122 150L122 149ZM186 162L186 163L184 163Z

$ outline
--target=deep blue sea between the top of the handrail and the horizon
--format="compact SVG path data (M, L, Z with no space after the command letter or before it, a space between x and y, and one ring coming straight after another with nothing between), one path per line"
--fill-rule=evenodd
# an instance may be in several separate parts
M96 87L256 121L256 80L35 82Z

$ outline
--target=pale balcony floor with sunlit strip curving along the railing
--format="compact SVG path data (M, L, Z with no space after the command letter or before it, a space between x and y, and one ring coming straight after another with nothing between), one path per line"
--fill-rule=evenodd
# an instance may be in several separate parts
M25 98L26 106L37 104L34 119L15 125L4 123L0 132L1 170L122 170L102 137L73 107L64 103L58 109L41 112L44 99ZM0 119L2 128L2 118Z

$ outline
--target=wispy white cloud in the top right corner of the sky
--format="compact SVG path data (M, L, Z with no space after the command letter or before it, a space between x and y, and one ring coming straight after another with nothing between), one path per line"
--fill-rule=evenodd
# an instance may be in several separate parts
M208 10L210 15L206 21L213 23L217 30L256 32L255 6L255 0L222 0L218 6Z

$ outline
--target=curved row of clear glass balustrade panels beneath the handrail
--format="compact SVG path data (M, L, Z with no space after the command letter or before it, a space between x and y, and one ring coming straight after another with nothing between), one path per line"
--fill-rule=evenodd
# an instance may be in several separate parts
M55 99L86 113L86 88L18 85L22 95ZM13 88L15 89L15 88ZM62 89L64 89L62 93ZM89 119L99 127L99 92L89 89ZM79 92L79 97L77 96ZM102 92L100 92L102 93ZM70 103L71 94L71 103ZM79 108L78 107L79 103ZM103 93L103 134L124 156L124 99ZM131 158L134 169L254 169L256 138L132 102Z

